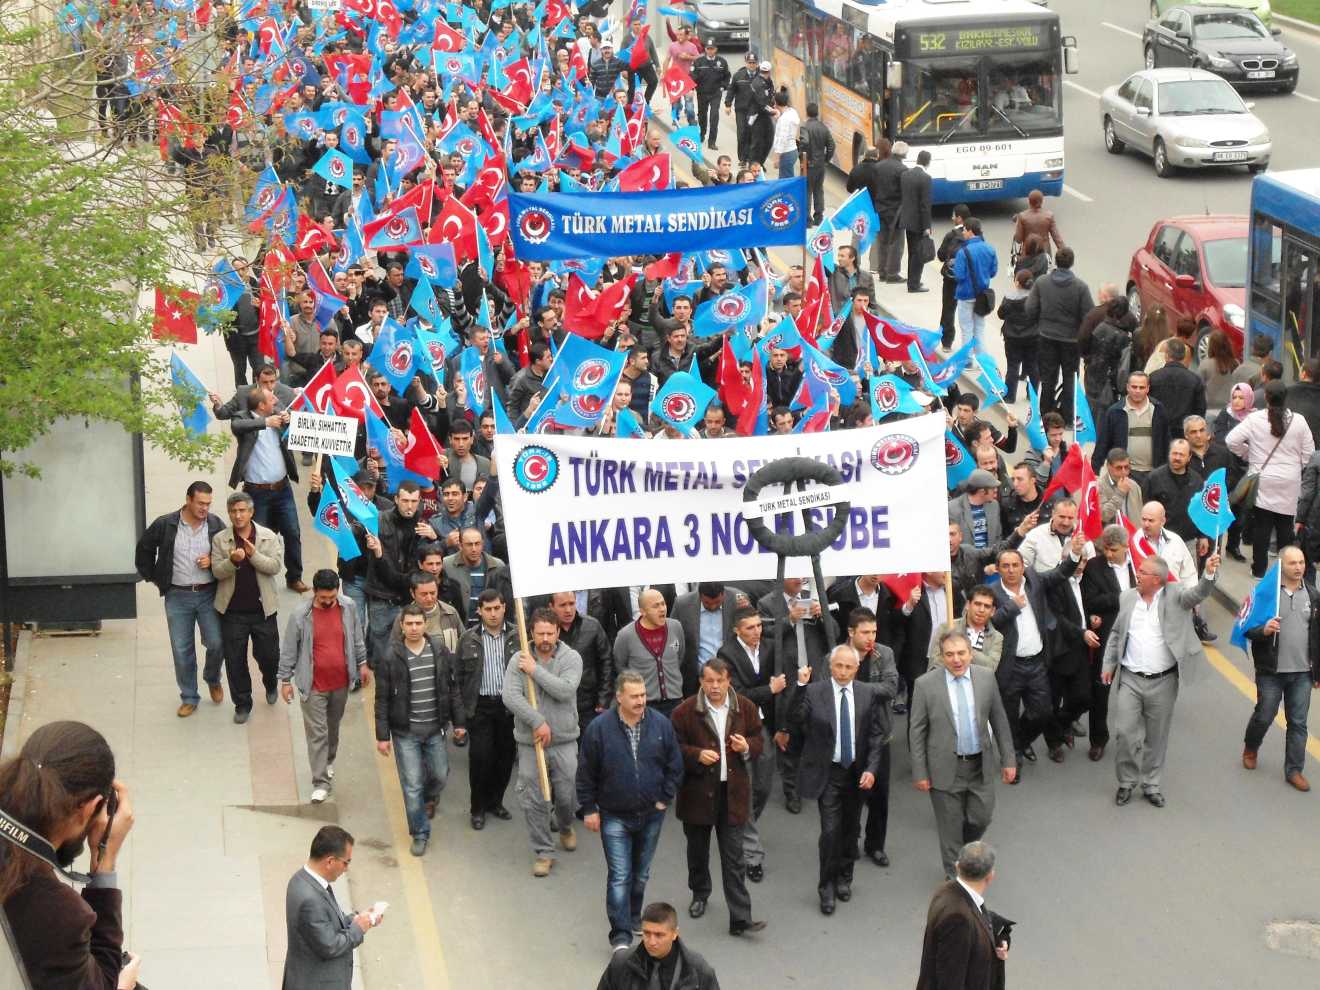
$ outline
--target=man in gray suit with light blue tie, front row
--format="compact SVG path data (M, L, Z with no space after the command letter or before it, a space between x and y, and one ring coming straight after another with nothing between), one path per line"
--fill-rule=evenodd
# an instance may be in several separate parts
M940 638L944 667L917 677L908 717L912 783L931 795L944 875L954 876L958 850L981 838L994 813L994 776L986 772L991 734L1003 783L1018 776L1008 713L995 676L972 665L964 632Z

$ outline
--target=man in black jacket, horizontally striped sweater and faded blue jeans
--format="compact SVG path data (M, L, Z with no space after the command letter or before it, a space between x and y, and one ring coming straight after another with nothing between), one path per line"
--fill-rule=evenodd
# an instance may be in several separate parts
M426 635L426 612L405 605L399 615L401 639L376 661L376 750L388 756L393 744L412 854L422 855L430 841L428 810L449 779L445 726L466 734L463 705L454 677L454 655L444 642ZM428 793L428 788L430 793Z

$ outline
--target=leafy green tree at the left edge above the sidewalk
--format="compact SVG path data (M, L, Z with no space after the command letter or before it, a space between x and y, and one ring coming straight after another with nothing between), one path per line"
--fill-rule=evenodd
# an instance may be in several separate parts
M143 71L143 40L164 32L170 12L148 8L132 26L125 17L123 29L84 24L70 34L55 26L55 9L38 3L34 26L0 29L0 228L9 240L0 265L3 470L40 473L21 451L66 416L117 422L206 467L228 438L185 432L178 404L189 396L170 384L150 305L140 305L156 285L195 284L205 261L187 249L187 228L202 210L223 214L220 202L199 206L162 153L185 125L197 135L214 127L206 120L214 87L197 61L205 37L165 55L154 50L170 88L131 94L102 120L98 107L110 110L107 94L133 88L123 83ZM161 135L156 112L177 106L168 99L174 92L187 95L195 116L180 114L174 133ZM161 150L141 143L153 135L165 139Z

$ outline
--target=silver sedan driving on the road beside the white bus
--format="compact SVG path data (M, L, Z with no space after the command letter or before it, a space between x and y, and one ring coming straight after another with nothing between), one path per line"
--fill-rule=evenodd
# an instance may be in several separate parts
M1168 178L1180 168L1270 166L1270 131L1224 79L1204 69L1144 69L1100 96L1105 149L1131 145Z

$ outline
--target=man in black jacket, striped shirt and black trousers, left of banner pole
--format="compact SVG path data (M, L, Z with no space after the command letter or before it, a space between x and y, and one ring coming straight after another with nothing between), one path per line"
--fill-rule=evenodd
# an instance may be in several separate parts
M504 791L513 774L516 748L513 717L500 693L504 668L517 651L513 627L504 622L504 595L487 587L477 599L479 622L458 640L458 684L465 725L471 731L467 780L471 789L471 822L486 828L486 816L502 821L513 816L504 807Z

